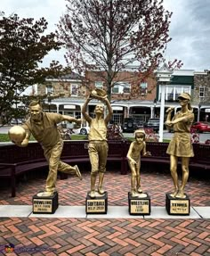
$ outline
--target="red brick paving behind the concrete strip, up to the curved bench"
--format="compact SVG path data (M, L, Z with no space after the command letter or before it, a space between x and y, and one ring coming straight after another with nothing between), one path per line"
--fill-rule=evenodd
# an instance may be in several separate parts
M31 198L44 189L45 178L21 180L16 197L11 197L9 188L0 190L0 204L31 204ZM120 175L118 171L108 171L104 180L109 194L109 205L127 205L127 192L130 190L130 174ZM171 175L166 172L142 171L141 186L148 192L151 204L165 206L166 193L173 190ZM85 205L85 197L90 189L90 174L83 173L83 180L75 176L57 181L59 202L61 205ZM210 206L210 178L191 177L186 186L192 206Z

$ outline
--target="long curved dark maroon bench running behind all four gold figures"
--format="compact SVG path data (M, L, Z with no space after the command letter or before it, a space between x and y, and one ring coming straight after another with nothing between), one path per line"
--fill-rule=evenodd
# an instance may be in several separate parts
M128 173L126 154L130 146L129 141L109 141L108 161L120 163L120 173ZM158 165L170 165L170 157L166 154L168 143L147 142L149 157L141 157L142 164L157 168ZM195 157L190 159L190 169L210 169L210 145L195 144ZM89 161L88 141L65 141L61 154L61 161L70 165L83 164ZM180 161L179 161L180 164ZM29 171L48 169L44 159L44 152L38 143L30 143L28 147L20 148L16 145L0 145L0 178L11 181L12 197L16 192L16 178ZM67 175L60 173L61 178Z

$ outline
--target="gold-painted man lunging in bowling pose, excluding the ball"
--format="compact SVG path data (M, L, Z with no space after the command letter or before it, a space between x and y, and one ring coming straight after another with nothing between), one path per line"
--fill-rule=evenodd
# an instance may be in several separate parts
M44 112L41 105L36 101L29 104L29 112L29 119L21 126L26 131L25 138L21 142L16 143L15 140L13 142L22 147L27 146L32 134L36 141L42 145L44 156L49 163L49 173L46 179L45 191L37 195L40 197L51 196L55 192L58 170L68 174L76 174L78 178L82 179L77 165L71 167L60 160L63 141L57 128L57 124L63 120L76 122L77 124L80 124L81 120L58 113ZM14 136L11 130L9 134Z

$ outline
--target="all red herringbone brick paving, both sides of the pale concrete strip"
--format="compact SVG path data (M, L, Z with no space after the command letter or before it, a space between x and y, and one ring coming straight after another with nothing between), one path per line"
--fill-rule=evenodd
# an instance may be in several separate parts
M58 180L61 205L85 205L90 174ZM21 181L17 196L0 190L0 204L28 204L37 189L44 188L45 178ZM141 173L143 192L151 204L165 206L165 194L173 189L166 172ZM192 206L210 206L209 178L191 177L186 186ZM127 205L130 175L106 173L105 188L109 205ZM8 255L140 255L140 256L209 256L210 219L38 219L1 218L0 255L7 255L4 246L14 244ZM28 251L28 252L26 252Z

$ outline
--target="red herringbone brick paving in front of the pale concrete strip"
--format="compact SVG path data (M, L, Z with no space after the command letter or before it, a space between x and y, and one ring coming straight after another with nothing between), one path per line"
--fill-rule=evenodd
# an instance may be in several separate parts
M206 219L1 219L8 255L209 256ZM28 250L28 251L27 251Z

